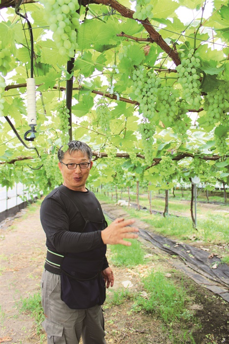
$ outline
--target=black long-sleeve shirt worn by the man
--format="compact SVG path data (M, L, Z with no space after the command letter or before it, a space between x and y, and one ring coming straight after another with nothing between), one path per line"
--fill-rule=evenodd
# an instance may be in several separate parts
M79 253L101 247L101 231L84 233L85 219L77 204L84 209L88 221L102 222L104 215L95 195L70 190L61 185L53 190L42 202L40 220L46 233L47 248L57 254ZM106 257L103 269L108 267Z

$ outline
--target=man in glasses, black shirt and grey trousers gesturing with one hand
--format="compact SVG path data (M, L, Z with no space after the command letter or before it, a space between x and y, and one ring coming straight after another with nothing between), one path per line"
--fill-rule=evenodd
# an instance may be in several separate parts
M41 224L48 248L42 274L42 305L48 344L105 344L101 305L114 276L107 244L129 246L137 238L134 220L116 219L107 227L95 195L86 189L93 165L86 143L71 141L58 151L63 184L41 204Z

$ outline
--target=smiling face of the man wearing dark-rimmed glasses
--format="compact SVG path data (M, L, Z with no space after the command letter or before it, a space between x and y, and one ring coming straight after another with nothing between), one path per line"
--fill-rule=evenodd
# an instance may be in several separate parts
M72 152L72 154L69 154L69 151L66 151L64 153L64 157L62 162L64 164L70 164L70 163L88 163L89 159L86 155L84 155L81 151L76 150ZM63 185L67 188L75 191L86 191L86 179L89 175L90 169L93 165L93 162L90 162L90 165L87 169L81 169L79 165L77 165L75 170L69 170L67 166L58 163L58 167L60 169L60 172L63 176Z

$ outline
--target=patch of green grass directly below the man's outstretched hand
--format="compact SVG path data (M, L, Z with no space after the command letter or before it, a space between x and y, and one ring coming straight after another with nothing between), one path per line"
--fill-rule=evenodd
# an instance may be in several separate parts
M111 262L116 266L133 267L145 262L145 251L136 239L128 239L131 246L111 245Z

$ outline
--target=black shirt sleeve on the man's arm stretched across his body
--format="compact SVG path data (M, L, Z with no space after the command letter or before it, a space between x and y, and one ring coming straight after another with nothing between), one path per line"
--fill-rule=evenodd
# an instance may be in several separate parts
M41 204L41 225L46 233L47 246L58 253L78 253L101 247L101 231L80 233L69 231L69 218L63 205L47 198Z

